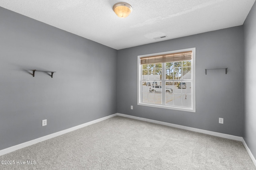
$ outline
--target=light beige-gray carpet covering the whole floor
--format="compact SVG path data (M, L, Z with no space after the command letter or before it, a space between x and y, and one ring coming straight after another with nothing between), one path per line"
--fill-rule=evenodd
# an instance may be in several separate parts
M1 170L256 170L242 142L120 116L0 160L14 161Z

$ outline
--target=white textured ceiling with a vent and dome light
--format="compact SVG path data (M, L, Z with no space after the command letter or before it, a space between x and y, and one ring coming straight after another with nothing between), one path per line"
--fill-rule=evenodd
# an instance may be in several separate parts
M112 7L133 8L118 18ZM242 25L255 0L0 0L0 6L54 27L124 49ZM163 39L154 39L167 35Z

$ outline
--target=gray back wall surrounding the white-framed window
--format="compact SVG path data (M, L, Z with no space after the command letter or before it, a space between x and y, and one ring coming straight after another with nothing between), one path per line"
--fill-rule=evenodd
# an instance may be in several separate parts
M242 31L238 26L118 50L118 113L242 137ZM196 112L138 106L137 56L192 47L196 47ZM205 75L205 68L226 67L228 74L209 70ZM224 124L218 123L219 117Z

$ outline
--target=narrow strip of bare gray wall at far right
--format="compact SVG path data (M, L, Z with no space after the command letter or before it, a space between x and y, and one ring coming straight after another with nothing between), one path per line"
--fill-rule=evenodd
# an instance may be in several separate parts
M244 22L244 140L256 158L256 4Z

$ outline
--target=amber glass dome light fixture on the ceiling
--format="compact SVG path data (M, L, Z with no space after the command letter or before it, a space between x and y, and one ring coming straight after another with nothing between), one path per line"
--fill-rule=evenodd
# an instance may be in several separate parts
M113 11L120 18L126 18L132 12L132 6L125 2L116 3L113 6Z

